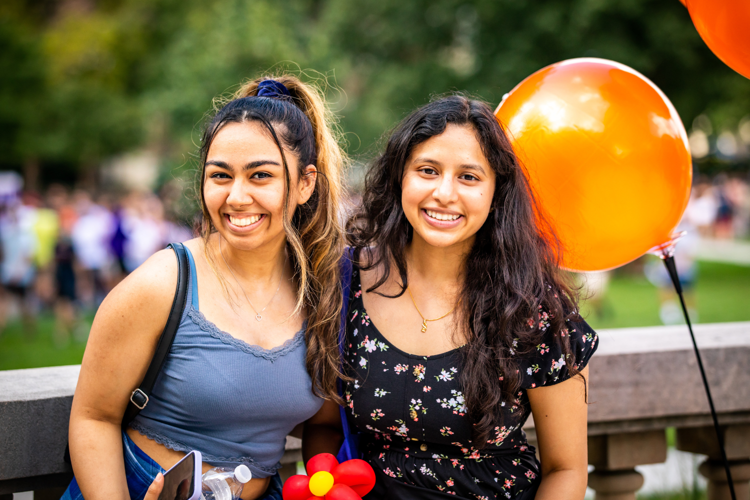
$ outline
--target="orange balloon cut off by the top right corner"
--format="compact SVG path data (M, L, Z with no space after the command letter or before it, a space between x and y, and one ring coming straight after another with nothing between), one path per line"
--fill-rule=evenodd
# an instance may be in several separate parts
M687 0L698 34L724 64L750 78L750 1Z

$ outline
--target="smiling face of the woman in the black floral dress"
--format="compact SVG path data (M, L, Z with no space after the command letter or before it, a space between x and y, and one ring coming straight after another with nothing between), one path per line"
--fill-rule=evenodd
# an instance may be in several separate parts
M434 247L470 245L490 213L495 172L474 130L449 125L413 148L401 185L415 239Z

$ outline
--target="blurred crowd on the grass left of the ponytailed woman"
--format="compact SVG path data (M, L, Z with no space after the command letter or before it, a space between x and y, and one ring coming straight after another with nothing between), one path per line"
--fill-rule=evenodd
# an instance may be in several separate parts
M83 341L85 313L151 254L190 238L154 193L92 196L52 184L40 195L24 191L16 172L0 172L0 332L20 314L33 335L46 308L56 343Z

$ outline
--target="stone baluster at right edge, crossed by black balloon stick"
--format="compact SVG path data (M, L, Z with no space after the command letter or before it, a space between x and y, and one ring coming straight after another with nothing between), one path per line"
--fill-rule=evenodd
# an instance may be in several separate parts
M721 427L724 450L727 452L737 500L750 499L750 425L735 424ZM698 472L708 480L708 500L731 500L721 451L713 427L685 427L677 429L676 448L691 453L708 455Z

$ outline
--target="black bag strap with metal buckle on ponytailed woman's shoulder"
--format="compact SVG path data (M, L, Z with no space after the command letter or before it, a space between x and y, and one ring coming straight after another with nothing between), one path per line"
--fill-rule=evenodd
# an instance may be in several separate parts
M130 394L130 401L127 402L127 409L125 409L125 415L122 418L122 427L127 427L148 404L148 396L154 388L159 373L161 373L166 355L172 348L172 342L175 340L175 334L182 319L185 301L187 301L187 286L190 283L190 264L187 262L187 250L181 243L171 243L167 248L169 247L175 250L177 256L177 291L172 301L172 310L169 311L169 318L166 319L166 325L164 325L164 330L161 332L159 343L156 346L154 358L148 365L143 381L133 391L133 394Z

